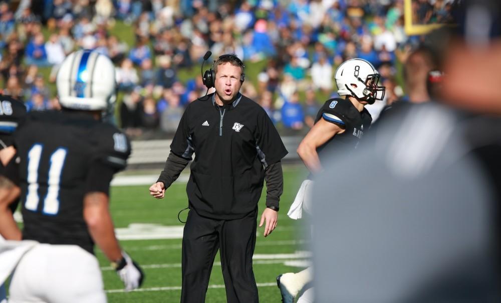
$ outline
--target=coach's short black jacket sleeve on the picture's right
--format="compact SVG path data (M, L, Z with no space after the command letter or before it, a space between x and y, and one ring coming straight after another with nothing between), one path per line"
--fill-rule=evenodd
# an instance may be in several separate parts
M255 137L258 157L265 167L279 162L288 154L277 128L262 108L258 112Z

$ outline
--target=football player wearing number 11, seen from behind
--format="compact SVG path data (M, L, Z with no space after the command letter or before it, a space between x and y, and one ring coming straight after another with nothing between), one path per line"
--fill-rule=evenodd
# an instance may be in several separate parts
M111 179L130 154L125 134L101 121L115 99L115 68L104 55L77 51L61 65L56 86L62 111L30 112L14 133L24 220L20 243L36 244L19 256L10 302L105 302L94 243L126 290L139 287L144 277L122 251L109 211ZM0 221L0 233L19 240L18 227L8 223Z

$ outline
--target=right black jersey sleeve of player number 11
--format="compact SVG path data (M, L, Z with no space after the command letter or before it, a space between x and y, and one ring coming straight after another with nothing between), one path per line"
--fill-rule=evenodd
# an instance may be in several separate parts
M98 127L94 131L94 153L91 167L98 163L112 168L116 173L125 169L131 153L127 135L112 125Z

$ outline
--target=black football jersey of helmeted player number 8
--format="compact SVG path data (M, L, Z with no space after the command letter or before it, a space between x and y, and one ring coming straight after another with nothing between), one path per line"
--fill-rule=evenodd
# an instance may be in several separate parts
M358 142L371 125L372 117L367 109L361 112L348 99L334 98L327 100L320 108L315 119L317 123L320 119L336 123L343 127L345 131L336 134L325 144L317 148L320 160L329 155L331 148L356 148ZM333 150L334 150L333 149Z

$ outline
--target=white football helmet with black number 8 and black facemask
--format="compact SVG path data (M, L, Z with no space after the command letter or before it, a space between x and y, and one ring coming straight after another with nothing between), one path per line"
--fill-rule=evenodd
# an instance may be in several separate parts
M378 86L379 77L372 64L359 58L341 63L334 74L340 96L350 95L369 104L383 100L385 88Z

